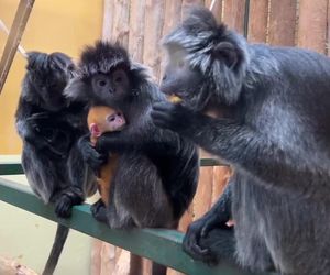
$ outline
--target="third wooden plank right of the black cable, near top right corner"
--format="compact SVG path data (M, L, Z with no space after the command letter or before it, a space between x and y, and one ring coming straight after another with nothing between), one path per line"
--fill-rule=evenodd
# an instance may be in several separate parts
M300 0L297 45L326 53L328 0Z

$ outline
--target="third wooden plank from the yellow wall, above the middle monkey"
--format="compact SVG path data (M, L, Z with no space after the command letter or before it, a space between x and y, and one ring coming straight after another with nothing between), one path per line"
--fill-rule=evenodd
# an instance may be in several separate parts
M133 61L143 62L145 0L131 1L129 53Z

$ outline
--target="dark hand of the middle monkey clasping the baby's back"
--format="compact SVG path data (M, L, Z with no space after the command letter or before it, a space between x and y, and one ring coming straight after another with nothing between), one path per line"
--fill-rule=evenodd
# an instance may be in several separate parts
M99 170L102 164L107 163L109 154L98 152L89 142L89 134L78 141L78 147L84 161L94 169Z

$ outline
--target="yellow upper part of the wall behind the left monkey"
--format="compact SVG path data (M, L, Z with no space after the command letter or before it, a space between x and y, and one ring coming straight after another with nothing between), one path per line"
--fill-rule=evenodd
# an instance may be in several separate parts
M10 28L19 0L0 0L0 19ZM26 51L65 52L76 58L84 45L101 36L102 0L36 0L22 45ZM0 31L0 55L7 36ZM16 53L0 96L0 154L19 154L14 112L25 59Z

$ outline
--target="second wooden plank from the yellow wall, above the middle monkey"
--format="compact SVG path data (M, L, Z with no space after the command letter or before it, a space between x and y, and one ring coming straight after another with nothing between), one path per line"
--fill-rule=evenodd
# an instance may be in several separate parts
M128 48L130 37L130 0L112 1L112 37Z

